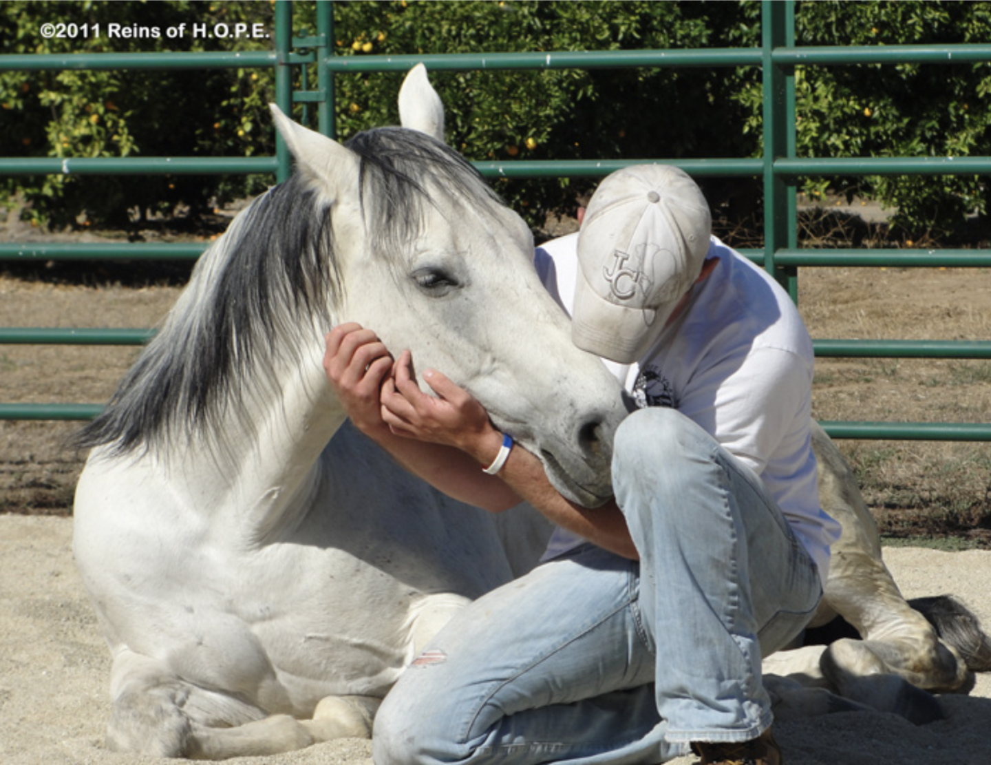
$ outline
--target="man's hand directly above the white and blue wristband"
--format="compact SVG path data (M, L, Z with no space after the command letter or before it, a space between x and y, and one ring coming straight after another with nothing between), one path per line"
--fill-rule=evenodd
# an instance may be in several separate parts
M403 351L382 388L382 418L389 429L407 438L453 446L483 464L491 462L502 436L485 407L436 370L425 370L423 381L436 396L420 390L412 357Z

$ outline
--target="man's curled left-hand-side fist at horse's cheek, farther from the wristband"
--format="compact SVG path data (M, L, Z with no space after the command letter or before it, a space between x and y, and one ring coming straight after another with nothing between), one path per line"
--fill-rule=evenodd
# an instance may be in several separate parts
M381 395L392 371L392 357L385 344L355 322L339 324L325 339L323 369L351 421L373 439L387 435Z

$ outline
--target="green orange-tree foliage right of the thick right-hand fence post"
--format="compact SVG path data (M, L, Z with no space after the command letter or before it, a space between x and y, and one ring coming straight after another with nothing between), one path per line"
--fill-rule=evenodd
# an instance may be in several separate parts
M800 46L986 44L987 2L802 2ZM991 155L991 65L860 64L799 68L798 147L807 157ZM812 179L809 188L816 182ZM976 176L837 178L832 190L897 207L909 238L951 230L974 210L986 216Z

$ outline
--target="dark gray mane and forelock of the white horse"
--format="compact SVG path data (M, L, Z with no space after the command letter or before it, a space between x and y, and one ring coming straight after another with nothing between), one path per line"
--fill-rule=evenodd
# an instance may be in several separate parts
M496 203L470 164L415 131L380 128L347 146L360 159L376 257L401 261L421 232L428 188ZM312 328L330 328L343 289L330 220L329 205L299 173L252 202L204 253L162 330L73 444L123 454L179 432L221 444L221 417L242 404L245 376L254 370L259 384L275 385L275 369L300 363L302 343L320 342Z

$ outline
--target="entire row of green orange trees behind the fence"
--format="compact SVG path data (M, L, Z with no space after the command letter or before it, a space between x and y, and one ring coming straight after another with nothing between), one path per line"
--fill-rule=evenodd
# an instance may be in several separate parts
M294 3L298 31L315 3ZM740 2L335 2L334 55L752 48L761 4ZM984 43L989 2L801 2L799 45ZM271 41L43 39L43 22L165 28L217 21L272 29L271 2L5 2L4 53L269 49ZM315 71L310 70L311 83ZM335 123L348 138L398 121L400 73L335 75ZM758 67L431 72L447 108L449 143L477 161L758 157ZM312 87L312 84L310 85ZM298 82L296 84L298 87ZM991 155L988 64L803 66L796 77L804 157ZM271 69L0 72L0 142L8 156L245 156L273 151ZM127 209L193 209L253 193L268 178L37 177L8 179L36 214L71 221ZM0 181L2 182L2 181ZM495 181L532 224L574 210L593 179ZM805 190L861 193L898 207L907 237L937 235L977 209L970 177L810 178Z

